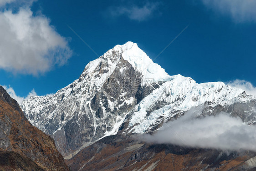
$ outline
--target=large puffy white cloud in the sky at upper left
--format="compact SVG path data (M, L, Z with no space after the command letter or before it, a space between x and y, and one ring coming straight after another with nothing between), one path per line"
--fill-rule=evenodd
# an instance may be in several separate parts
M29 8L0 12L0 68L38 75L54 65L64 65L72 50L44 15Z

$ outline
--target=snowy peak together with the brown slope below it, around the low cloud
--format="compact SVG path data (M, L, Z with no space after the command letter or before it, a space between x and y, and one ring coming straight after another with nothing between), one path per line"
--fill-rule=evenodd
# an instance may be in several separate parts
M70 85L53 95L31 97L21 109L33 126L54 139L70 170L255 168L252 151L226 154L136 139L199 106L204 109L197 117L226 112L248 125L256 123L254 96L223 82L199 84L168 75L136 43L127 42L89 62Z

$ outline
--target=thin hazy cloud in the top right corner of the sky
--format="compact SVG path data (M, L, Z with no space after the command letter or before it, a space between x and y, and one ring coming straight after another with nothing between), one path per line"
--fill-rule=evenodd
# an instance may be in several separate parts
M230 15L236 22L256 21L256 0L202 0L213 10Z

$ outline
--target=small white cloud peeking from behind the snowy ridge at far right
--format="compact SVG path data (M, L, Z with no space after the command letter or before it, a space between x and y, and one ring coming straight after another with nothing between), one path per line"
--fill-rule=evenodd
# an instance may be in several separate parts
M256 87L254 87L251 82L246 80L234 80L227 83L231 87L241 88L242 90L246 91L249 95L256 96Z

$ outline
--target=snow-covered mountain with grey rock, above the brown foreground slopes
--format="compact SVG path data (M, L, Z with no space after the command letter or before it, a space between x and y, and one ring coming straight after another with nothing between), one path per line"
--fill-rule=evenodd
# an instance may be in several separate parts
M68 159L105 136L155 131L200 105L206 106L202 115L224 110L235 115L234 106L246 106L242 120L256 122L250 113L256 111L253 96L223 82L197 84L170 76L137 44L127 42L89 62L77 80L56 94L31 97L21 108Z

